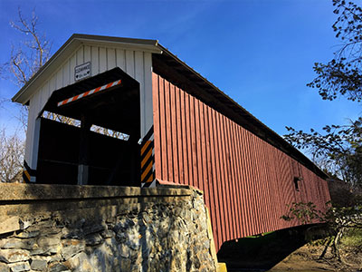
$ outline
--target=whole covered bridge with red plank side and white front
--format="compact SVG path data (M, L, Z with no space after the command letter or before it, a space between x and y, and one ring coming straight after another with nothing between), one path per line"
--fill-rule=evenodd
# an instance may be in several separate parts
M216 248L329 200L323 171L155 40L73 34L13 100L29 106L24 180L194 186Z

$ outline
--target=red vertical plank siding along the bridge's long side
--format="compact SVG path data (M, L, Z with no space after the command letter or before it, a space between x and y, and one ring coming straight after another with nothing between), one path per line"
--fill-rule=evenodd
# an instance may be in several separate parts
M294 201L324 209L325 180L156 73L152 81L156 178L204 190L217 249L299 225L281 219Z

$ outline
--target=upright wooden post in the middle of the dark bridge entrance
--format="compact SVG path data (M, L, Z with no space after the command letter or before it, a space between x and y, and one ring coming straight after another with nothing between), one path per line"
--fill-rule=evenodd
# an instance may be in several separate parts
M78 164L78 185L88 184L89 175L89 136L91 122L86 114L81 114L81 139Z

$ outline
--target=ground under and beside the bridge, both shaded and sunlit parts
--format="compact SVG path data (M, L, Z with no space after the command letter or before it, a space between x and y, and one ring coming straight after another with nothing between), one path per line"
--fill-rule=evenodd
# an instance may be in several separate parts
M345 232L339 243L341 261L331 248L319 259L328 234L323 226L281 229L262 236L228 241L217 253L228 271L362 272L362 229ZM307 242L310 240L310 242Z

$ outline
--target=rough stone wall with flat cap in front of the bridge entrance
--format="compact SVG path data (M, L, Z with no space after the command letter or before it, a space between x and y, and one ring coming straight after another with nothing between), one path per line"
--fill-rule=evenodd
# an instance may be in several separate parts
M214 271L207 216L191 188L0 184L0 272Z

